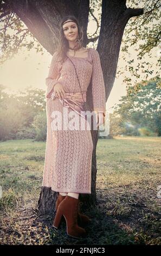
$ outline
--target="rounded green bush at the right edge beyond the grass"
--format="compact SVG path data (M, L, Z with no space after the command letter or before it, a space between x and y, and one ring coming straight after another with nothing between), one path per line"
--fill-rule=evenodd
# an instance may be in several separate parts
M160 78L128 88L111 117L113 135L161 136Z

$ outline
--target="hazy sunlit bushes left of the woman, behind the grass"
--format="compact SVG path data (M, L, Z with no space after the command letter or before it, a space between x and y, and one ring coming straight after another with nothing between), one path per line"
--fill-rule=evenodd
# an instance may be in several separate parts
M44 90L26 88L25 92L8 95L0 85L0 92L0 140L35 138L38 130L33 126L34 118L41 112L46 113ZM40 136L39 131L39 139Z

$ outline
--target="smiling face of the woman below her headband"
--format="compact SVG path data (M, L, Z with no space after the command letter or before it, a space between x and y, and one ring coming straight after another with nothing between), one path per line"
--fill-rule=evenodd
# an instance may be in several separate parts
M65 23L63 25L63 32L68 41L75 41L78 38L78 27L74 21Z

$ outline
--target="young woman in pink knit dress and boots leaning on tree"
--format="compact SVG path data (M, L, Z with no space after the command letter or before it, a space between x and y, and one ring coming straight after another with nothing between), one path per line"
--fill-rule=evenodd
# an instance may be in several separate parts
M90 221L80 214L78 204L79 193L91 193L93 142L90 129L80 126L84 121L89 127L80 113L91 80L93 110L102 117L99 125L105 122L106 111L99 53L94 48L83 47L82 39L78 20L74 16L64 17L60 24L59 47L53 54L46 78L47 142L42 186L59 192L53 227L58 228L61 217L65 217L67 234L73 237L86 235L78 220L82 224ZM70 115L73 112L78 128L74 130L71 121L67 123L65 119L65 114L73 117Z

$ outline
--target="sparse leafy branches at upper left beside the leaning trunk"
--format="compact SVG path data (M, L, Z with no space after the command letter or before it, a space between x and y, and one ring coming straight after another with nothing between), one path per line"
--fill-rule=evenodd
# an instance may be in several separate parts
M1 3L1 5L5 10L7 3ZM0 15L3 15L3 8L0 9ZM2 53L0 52L0 64L14 57L23 48L26 48L28 51L35 48L36 52L43 52L40 42L24 25L21 18L10 7L4 13L7 15L4 15L3 19L1 19L0 51Z

